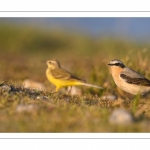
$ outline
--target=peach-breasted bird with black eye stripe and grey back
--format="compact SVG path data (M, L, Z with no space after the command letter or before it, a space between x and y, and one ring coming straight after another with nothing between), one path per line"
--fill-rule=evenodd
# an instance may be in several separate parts
M150 92L150 80L126 67L122 61L114 59L108 65L115 84L123 91L133 95L145 95Z

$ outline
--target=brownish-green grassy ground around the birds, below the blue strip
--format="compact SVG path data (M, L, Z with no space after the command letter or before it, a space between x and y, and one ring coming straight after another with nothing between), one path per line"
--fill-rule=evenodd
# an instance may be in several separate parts
M123 38L0 25L0 132L149 132L150 98L119 90L107 66L118 58L150 79L149 50L146 43ZM51 58L105 89L82 86L81 96L52 94L43 62ZM23 88L27 78L43 83L46 90ZM104 99L106 95L117 98ZM111 124L109 117L118 108L127 110L133 123Z

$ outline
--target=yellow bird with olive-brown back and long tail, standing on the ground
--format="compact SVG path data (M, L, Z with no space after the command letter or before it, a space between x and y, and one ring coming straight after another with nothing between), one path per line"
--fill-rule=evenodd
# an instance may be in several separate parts
M56 86L56 92L58 92L60 88L75 85L85 85L103 89L103 87L86 83L84 80L75 77L67 70L61 68L60 63L57 60L48 60L46 61L46 64L48 66L46 69L46 76L48 80Z

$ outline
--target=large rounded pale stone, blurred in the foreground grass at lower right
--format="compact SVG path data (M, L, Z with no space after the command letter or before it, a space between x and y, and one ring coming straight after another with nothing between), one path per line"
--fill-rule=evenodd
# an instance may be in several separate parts
M110 115L109 122L111 124L127 125L133 123L133 117L128 111L124 109L117 109Z

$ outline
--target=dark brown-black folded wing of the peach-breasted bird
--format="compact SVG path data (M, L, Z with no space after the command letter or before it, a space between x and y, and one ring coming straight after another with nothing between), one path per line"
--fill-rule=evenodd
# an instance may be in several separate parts
M150 81L146 78L131 78L125 74L120 74L120 77L130 84L150 86Z

